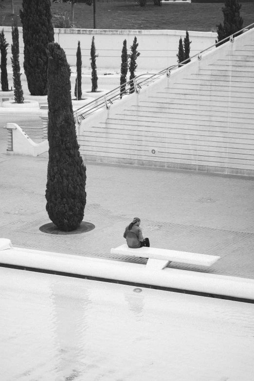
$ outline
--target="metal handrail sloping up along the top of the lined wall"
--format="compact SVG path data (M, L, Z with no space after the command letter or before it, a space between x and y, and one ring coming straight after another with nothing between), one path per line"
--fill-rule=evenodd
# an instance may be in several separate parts
M94 99L93 101L91 101L87 105L82 106L79 109L76 109L74 111L74 117L75 117L77 123L78 124L81 123L81 121L79 120L79 117L82 120L84 120L86 117L88 117L94 111L100 110L104 107L106 107L107 109L110 109L110 105L112 105L113 102L115 102L117 100L121 100L123 97L125 97L126 95L129 95L133 92L139 93L142 86L148 86L150 83L154 82L155 80L157 80L158 78L160 78L164 74L166 74L166 76L169 77L172 70L183 66L186 61L190 61L192 58L195 58L195 57L197 57L200 60L202 58L202 56L201 56L202 53L216 47L217 45L222 44L222 42L224 42L226 40L228 40L230 42L234 42L236 35L239 35L242 32L244 33L253 27L254 27L254 23L246 26L245 28L241 29L240 31L237 31L233 35L228 36L221 41L218 41L214 45L209 46L208 48L202 50L201 52L196 53L189 58L186 58L184 61L181 61L176 65L169 66L168 68L163 69L159 73L155 73L155 74L154 73L145 73L145 74L140 74L140 75L136 76L135 78L127 81L126 83L122 84L121 86L118 86L117 88L115 88L115 89L107 92L106 94L100 96L99 98Z

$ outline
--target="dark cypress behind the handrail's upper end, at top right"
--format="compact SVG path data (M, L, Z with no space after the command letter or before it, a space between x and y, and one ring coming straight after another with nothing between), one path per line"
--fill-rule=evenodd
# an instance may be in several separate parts
M239 0L225 1L225 6L222 8L224 21L223 25L221 23L217 25L218 41L216 42L219 42L242 29L243 19L240 17L241 7L242 5L239 4ZM224 42L217 46L224 44Z

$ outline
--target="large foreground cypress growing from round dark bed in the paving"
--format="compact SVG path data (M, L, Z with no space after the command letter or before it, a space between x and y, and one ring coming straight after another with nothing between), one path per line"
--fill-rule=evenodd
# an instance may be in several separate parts
M71 98L71 70L64 50L48 46L49 162L46 210L63 231L75 230L84 217L86 167L79 153Z

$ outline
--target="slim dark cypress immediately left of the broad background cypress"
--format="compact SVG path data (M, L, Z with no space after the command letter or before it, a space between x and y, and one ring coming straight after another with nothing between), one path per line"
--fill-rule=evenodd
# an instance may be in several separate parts
M20 65L19 65L19 38L18 38L18 26L17 19L14 20L12 26L12 73L13 73L13 87L14 87L14 99L16 103L24 103L23 90L20 80Z

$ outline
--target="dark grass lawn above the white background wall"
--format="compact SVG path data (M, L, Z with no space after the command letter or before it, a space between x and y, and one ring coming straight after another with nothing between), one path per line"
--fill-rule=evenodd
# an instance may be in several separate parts
M11 1L5 0L0 9L0 25L12 25ZM216 32L216 25L223 21L224 3L170 3L157 7L149 0L140 7L135 0L97 0L97 29L176 29ZM22 8L22 0L14 0L15 15ZM52 14L68 12L71 4L53 3ZM243 26L254 22L254 2L244 2L241 8ZM74 5L74 23L78 28L93 28L93 7L83 3ZM21 26L18 17L18 26Z

